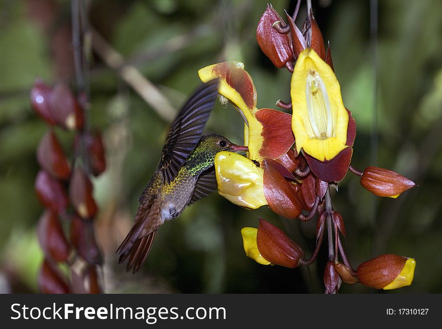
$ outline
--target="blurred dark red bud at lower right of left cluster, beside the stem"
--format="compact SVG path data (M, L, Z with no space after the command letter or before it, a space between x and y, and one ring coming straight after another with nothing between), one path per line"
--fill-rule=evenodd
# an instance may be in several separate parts
M93 222L74 217L71 222L71 242L78 254L89 264L101 265L101 253L93 233Z

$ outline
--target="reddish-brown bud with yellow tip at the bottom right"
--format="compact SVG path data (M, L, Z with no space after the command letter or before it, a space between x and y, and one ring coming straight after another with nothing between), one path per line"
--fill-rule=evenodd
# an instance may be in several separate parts
M413 281L416 261L412 258L386 254L359 265L356 277L367 287L396 289Z

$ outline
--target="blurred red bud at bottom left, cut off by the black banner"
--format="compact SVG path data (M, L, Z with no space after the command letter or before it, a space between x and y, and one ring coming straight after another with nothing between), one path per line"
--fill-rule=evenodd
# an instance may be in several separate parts
M43 294L67 294L69 286L57 268L44 260L38 273L38 289Z

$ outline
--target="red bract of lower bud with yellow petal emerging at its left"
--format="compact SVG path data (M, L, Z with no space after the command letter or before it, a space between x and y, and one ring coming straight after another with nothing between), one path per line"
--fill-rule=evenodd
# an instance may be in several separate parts
M295 268L303 252L282 230L259 218L256 242L260 254L269 262Z

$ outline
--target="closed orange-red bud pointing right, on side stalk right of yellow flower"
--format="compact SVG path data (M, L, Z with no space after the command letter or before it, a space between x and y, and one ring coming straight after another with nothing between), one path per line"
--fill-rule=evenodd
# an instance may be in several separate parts
M377 196L395 199L416 184L391 170L370 166L362 174L361 185Z

